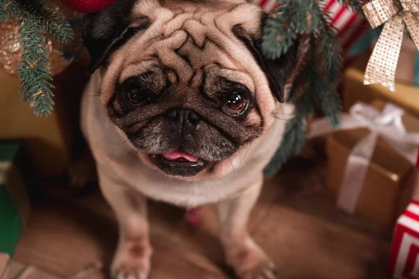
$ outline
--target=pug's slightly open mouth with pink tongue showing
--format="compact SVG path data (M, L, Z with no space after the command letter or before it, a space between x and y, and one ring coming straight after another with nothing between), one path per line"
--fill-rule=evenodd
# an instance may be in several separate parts
M196 176L210 162L182 151L169 151L149 156L154 165L170 176Z

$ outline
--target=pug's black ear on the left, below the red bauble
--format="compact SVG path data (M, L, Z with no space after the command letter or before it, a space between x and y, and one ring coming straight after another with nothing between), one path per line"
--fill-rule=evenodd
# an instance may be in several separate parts
M82 38L91 56L88 73L94 73L112 52L124 45L139 29L149 26L148 17L132 22L131 10L137 0L119 0L99 12L83 18Z

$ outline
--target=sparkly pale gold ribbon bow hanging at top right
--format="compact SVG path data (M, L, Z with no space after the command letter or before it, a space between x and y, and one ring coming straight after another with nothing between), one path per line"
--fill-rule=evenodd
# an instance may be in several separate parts
M373 0L362 6L372 28L386 22L369 58L364 84L383 84L395 91L395 73L404 26L419 50L419 0Z

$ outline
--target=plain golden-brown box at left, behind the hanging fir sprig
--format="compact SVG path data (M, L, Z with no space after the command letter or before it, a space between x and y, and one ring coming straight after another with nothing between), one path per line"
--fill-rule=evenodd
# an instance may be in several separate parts
M22 103L18 77L0 70L0 140L23 140L37 176L64 174L71 163L80 134L79 100L88 78L83 63L54 77L54 111L46 119Z

